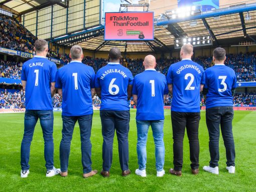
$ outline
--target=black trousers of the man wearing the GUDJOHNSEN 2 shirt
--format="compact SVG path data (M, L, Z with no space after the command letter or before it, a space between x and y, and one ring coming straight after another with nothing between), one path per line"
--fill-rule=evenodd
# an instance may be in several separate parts
M198 128L200 121L199 113L171 112L173 127L173 164L174 170L181 170L183 164L183 139L185 128L189 139L191 168L199 167L199 140Z

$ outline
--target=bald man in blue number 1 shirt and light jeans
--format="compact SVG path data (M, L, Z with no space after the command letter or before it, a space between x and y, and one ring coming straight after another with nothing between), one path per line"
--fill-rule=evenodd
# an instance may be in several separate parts
M155 141L155 156L157 176L164 176L165 145L164 145L164 95L168 94L165 75L157 72L156 58L152 55L145 57L143 62L145 71L134 78L133 98L137 104L137 154L139 168L135 173L146 175L147 138L151 125Z

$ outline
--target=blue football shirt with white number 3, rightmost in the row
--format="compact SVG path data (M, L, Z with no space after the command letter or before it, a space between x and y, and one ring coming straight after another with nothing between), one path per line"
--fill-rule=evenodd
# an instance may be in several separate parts
M233 106L231 89L236 88L236 76L233 69L224 64L215 64L205 70L206 108Z

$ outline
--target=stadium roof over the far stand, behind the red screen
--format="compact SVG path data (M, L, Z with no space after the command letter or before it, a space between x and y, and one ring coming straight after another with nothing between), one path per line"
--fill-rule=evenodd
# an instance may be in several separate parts
M234 45L240 41L256 43L256 4L205 12L185 19L155 22L154 41L104 41L104 26L68 34L52 40L65 46L80 45L93 51L118 47L122 52L162 52L174 48L174 39L195 36L213 37L213 44Z

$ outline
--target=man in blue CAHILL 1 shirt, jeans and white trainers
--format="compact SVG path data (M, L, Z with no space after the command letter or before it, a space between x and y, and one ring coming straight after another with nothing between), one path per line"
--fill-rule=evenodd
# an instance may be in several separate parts
M36 56L22 66L22 85L26 90L26 112L24 119L24 136L21 145L21 177L29 174L30 145L38 118L45 141L46 176L60 172L53 166L53 105L55 94L56 64L46 58L48 43L39 39L35 42Z

